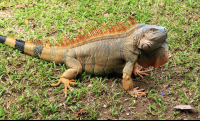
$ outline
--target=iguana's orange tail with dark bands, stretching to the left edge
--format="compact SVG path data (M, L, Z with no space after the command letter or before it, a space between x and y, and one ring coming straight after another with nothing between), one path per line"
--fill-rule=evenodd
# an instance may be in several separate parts
M38 57L46 61L54 61L56 64L64 63L64 58L67 53L66 47L44 47L31 42L22 41L10 37L0 35L0 43L11 46L20 50L22 53Z

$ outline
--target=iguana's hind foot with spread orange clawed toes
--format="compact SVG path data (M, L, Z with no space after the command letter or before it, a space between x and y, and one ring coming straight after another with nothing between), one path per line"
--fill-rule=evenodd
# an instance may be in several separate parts
M64 93L65 93L65 98L67 97L67 88L69 88L69 90L71 91L71 87L69 84L77 84L76 82L74 82L74 80L69 80L69 79L65 79L65 78L60 78L59 82L57 84L52 84L51 86L53 87L57 87L59 86L61 83L64 84L65 89L64 89Z

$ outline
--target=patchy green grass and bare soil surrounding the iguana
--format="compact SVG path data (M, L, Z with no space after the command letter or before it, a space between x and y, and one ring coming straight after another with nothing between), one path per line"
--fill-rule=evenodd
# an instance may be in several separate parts
M200 119L200 4L198 0L0 0L0 35L60 43L82 28L138 23L168 29L170 60L144 79L133 78L148 96L134 98L121 76L83 73L68 91L51 87L67 69L0 44L0 119ZM164 95L161 95L161 94ZM191 105L192 112L173 109ZM78 113L80 109L82 112Z

